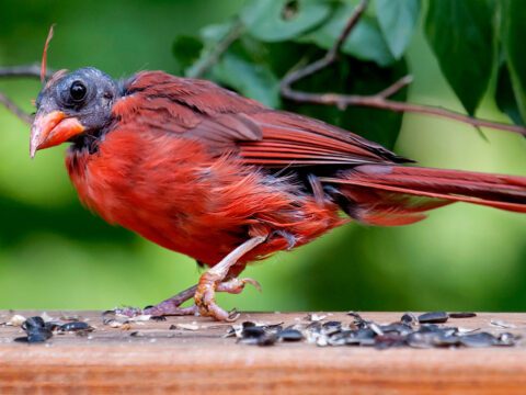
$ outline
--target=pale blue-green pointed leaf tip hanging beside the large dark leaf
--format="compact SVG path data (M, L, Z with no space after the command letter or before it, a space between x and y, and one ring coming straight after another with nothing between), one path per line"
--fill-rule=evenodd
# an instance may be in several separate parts
M376 15L384 38L396 59L400 59L419 19L420 0L376 0Z

